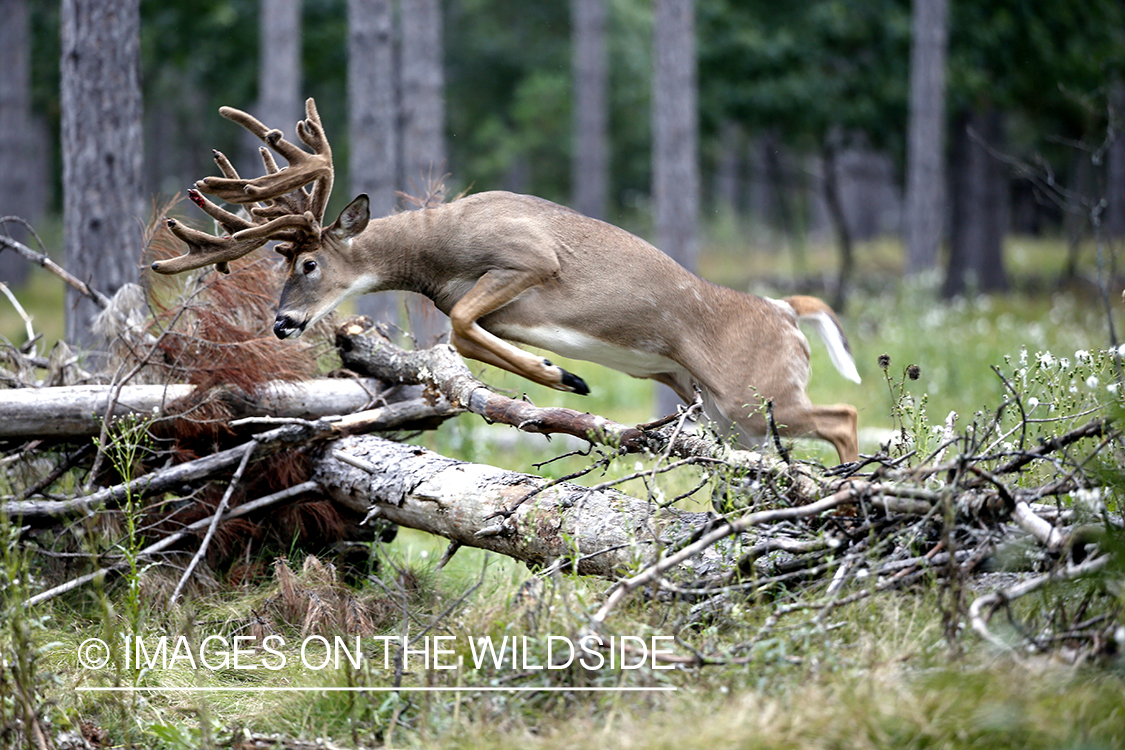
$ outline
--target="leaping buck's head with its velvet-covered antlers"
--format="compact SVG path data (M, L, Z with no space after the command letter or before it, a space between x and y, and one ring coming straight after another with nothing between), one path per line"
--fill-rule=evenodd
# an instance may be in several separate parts
M223 236L192 229L173 218L168 226L188 245L179 257L156 261L158 273L182 273L214 264L228 273L230 261L278 241L277 251L288 261L288 278L273 332L279 338L300 335L306 326L326 315L343 297L354 291L354 274L346 272L350 241L362 232L370 218L367 196L359 196L340 217L324 226L324 209L332 193L332 148L324 134L316 102L305 102L305 119L297 123L297 135L312 153L287 141L280 130L266 127L253 116L233 107L219 109L223 117L242 125L282 156L288 165L279 168L268 148L261 148L266 174L242 179L220 152L213 155L223 177L208 177L188 190L188 197L226 231ZM312 183L312 189L307 186ZM249 206L250 218L233 214L206 196L228 204ZM338 268L340 266L340 268ZM300 319L286 310L304 310Z

